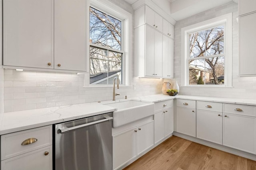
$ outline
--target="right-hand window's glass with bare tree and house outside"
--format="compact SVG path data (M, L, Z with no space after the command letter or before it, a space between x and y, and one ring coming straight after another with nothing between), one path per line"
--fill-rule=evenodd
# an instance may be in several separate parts
M188 82L224 84L224 25L188 34Z

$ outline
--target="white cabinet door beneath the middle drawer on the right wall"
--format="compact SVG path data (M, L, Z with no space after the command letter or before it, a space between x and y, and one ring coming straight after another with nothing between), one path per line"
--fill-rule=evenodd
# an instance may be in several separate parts
M197 110L196 137L222 145L222 113Z

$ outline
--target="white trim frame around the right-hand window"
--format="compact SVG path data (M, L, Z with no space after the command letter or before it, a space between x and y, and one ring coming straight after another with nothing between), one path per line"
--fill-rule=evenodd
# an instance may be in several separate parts
M224 85L189 85L188 82L188 35L202 29L224 23ZM232 87L232 13L202 21L181 29L181 85L200 87Z

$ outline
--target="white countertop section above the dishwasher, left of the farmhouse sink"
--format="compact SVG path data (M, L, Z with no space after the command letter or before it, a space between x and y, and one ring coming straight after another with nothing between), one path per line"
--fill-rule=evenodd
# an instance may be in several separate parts
M0 135L115 111L98 103L74 104L0 114Z

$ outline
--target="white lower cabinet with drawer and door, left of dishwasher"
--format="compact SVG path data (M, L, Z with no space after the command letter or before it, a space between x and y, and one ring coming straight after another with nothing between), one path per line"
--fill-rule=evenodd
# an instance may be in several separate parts
M2 135L1 170L52 170L52 125Z

